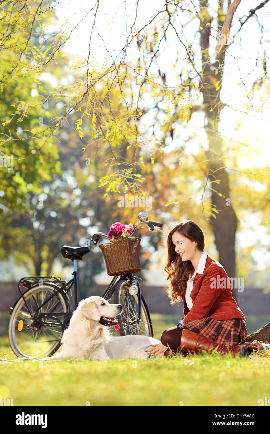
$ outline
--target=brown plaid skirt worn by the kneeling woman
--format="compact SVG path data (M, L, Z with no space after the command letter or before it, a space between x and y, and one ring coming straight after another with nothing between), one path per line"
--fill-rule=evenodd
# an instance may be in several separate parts
M208 316L207 318L184 321L182 324L184 325L183 328L187 328L219 344L227 343L233 347L247 342L247 328L240 318L218 321ZM181 324L179 324L179 328L181 329Z

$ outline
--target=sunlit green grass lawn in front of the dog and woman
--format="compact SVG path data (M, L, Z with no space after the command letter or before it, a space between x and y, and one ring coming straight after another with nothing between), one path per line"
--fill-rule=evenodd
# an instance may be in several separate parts
M155 336L180 318L152 315ZM7 336L0 358L16 356ZM270 352L110 362L1 363L0 398L14 405L257 406L270 399ZM269 401L270 402L270 401Z

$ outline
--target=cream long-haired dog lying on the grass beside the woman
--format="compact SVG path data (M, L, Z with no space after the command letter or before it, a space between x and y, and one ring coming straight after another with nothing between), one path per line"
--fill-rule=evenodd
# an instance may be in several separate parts
M111 336L109 328L117 327L115 318L123 307L110 304L99 296L81 300L72 315L68 329L63 333L61 352L41 360L63 358L88 358L90 360L111 360L119 358L148 357L146 349L161 342L145 335ZM118 326L119 328L119 326Z

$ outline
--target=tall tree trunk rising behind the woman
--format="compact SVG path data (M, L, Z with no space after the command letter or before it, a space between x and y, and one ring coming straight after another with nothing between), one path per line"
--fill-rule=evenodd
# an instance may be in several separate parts
M205 133L208 138L209 149L206 151L209 160L208 178L211 182L211 202L214 210L211 217L211 225L215 235L215 245L219 253L219 262L224 267L229 278L235 276L235 233L237 230L237 217L230 200L229 176L224 169L222 155L226 153L223 140L218 132L220 112L223 107L220 100L220 89L223 76L224 51L219 54L214 64L209 62L209 36L211 32L212 17L207 10L207 0L200 1L200 45L202 53L202 94L205 106ZM218 12L218 28L222 27L224 13L223 3ZM220 180L216 183L216 180ZM214 215L213 215L214 214ZM232 281L233 282L233 281ZM237 302L237 288L232 285L232 295Z

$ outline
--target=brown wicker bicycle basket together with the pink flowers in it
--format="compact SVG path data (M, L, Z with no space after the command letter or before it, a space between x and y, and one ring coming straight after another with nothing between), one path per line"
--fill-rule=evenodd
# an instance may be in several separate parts
M140 238L131 237L134 227L130 224L115 222L108 232L110 243L99 244L109 276L140 271Z

